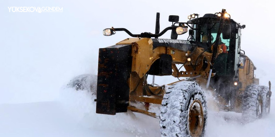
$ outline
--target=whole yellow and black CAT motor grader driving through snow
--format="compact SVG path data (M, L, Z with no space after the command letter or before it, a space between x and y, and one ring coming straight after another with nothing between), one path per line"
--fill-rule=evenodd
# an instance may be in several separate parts
M162 136L192 137L205 134L207 105L242 113L243 121L269 113L271 84L259 86L256 67L240 49L245 25L232 20L225 9L203 17L192 14L188 19L178 22L178 16L170 15L172 26L159 32L157 13L155 34L132 34L113 27L103 30L106 36L125 31L134 38L99 49L96 113L131 110L159 118ZM158 39L168 30L171 39ZM188 31L187 40L177 40ZM178 81L158 86L147 83L148 75L172 75ZM206 101L202 87L216 101ZM144 107L136 107L137 102ZM148 111L152 104L161 105L159 115Z

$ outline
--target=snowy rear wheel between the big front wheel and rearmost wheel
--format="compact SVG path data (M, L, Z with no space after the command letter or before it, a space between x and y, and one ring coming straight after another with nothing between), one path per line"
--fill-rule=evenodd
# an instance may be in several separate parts
M259 85L252 84L246 87L242 97L242 121L252 122L262 118L262 96Z

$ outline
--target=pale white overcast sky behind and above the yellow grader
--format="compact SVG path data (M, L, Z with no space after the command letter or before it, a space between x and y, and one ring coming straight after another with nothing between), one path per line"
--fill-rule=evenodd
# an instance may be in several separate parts
M63 7L63 12L9 12L8 7ZM170 26L169 15L187 16L226 9L245 24L241 49L257 67L261 85L275 84L273 2L261 1L0 1L0 103L50 101L70 78L97 74L98 49L128 38L126 33L103 36L109 27L134 34L154 32L156 12L160 28ZM188 35L188 34L186 34ZM169 38L170 34L160 38ZM178 39L184 39L179 36ZM175 79L177 80L177 79Z

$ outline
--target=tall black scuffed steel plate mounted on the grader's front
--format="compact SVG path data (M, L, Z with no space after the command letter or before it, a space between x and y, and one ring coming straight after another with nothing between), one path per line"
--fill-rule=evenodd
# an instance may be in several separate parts
M99 49L96 113L115 115L127 112L131 45L113 45Z

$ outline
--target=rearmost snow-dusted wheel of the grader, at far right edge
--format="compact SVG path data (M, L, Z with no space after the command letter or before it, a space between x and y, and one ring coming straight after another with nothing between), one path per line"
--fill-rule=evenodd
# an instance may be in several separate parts
M270 92L267 86L261 86L262 96L262 116L266 116L270 111Z

